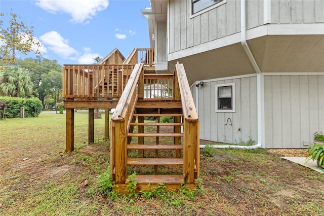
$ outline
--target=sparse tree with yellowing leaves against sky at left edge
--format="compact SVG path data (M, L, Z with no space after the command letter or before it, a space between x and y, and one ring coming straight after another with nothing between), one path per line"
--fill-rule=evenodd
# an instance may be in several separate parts
M0 17L5 14L0 13ZM16 61L16 50L22 54L34 52L40 54L39 48L42 46L33 36L33 26L28 27L21 21L17 14L10 13L12 17L7 28L3 27L3 20L0 20L0 65L13 64ZM32 46L36 48L33 49Z

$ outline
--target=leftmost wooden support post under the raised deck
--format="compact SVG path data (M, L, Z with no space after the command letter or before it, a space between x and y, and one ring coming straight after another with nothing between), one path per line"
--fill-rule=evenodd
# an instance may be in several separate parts
M66 109L65 152L74 151L74 109Z

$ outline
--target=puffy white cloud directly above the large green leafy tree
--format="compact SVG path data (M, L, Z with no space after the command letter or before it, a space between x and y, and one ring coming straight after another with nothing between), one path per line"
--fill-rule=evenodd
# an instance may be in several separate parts
M70 55L77 55L78 52L68 45L68 40L64 39L57 31L50 31L39 37L41 41L49 46L49 50L62 56L69 58Z

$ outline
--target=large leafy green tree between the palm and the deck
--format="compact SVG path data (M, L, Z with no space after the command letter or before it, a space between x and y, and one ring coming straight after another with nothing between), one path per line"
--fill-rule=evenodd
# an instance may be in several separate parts
M16 64L30 71L31 81L35 85L33 95L42 101L45 108L46 95L58 93L62 89L62 65L58 64L56 60L49 60L41 56L37 56L35 59L17 59Z

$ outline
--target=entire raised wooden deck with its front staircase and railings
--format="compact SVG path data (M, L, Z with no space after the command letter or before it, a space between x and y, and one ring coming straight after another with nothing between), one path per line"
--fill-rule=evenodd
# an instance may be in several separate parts
M192 96L188 94L190 89L184 67L176 64L173 74L145 73L152 71L153 65L149 61L154 56L153 50L146 50L146 53L145 58L140 57L141 64L133 64L139 58L137 56L121 64L64 65L66 151L74 150L74 109L89 109L89 143L93 142L94 109L105 109L105 136L111 132L113 185L118 186L114 190L127 192L130 166L153 169L152 175L136 175L138 190L150 190L148 184L154 186L158 183L165 184L169 190L179 189L183 184L188 189L195 188L199 176L199 121ZM105 61L109 61L109 56ZM115 111L109 130L111 108ZM147 123L144 117L156 118L157 121ZM163 117L171 117L174 121L161 123ZM155 131L144 132L147 127L155 128ZM161 132L163 127L172 127L173 132ZM155 141L144 142L152 137ZM170 137L173 143L161 141ZM130 151L137 152L137 157L130 157ZM170 153L164 154L167 158L161 158L159 151ZM149 152L153 152L153 158L147 157ZM182 174L158 174L161 166L180 167Z

